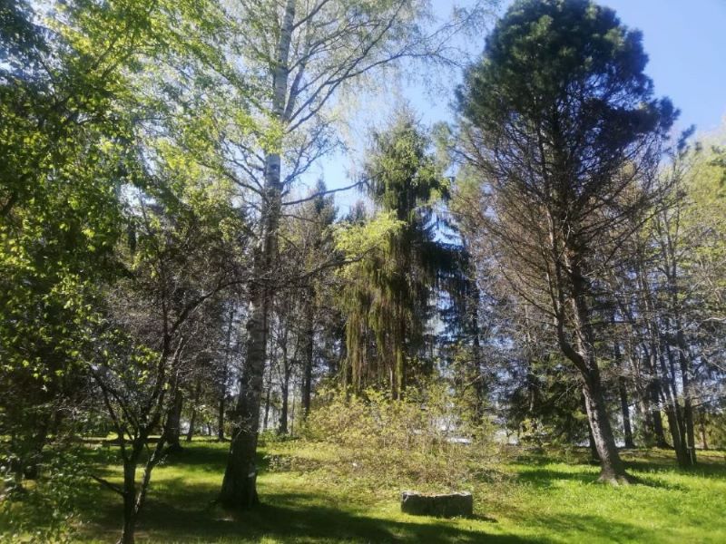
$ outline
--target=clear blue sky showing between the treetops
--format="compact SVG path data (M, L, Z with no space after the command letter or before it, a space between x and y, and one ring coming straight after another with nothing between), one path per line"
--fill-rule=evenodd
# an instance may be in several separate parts
M446 12L449 0L433 0L437 11ZM612 7L623 24L643 32L643 48L650 62L651 76L658 96L668 96L681 110L677 129L694 124L699 132L724 125L726 117L726 0L601 0ZM511 1L504 2L503 10ZM474 53L484 48L471 44ZM452 84L453 88L453 84ZM408 85L402 98L420 114L425 124L450 121L452 113L445 96L427 97L424 84ZM358 128L363 144L366 127ZM357 150L362 151L362 149ZM350 157L338 154L322 160L311 172L322 176L329 188L348 185ZM355 191L338 193L341 211L359 199Z

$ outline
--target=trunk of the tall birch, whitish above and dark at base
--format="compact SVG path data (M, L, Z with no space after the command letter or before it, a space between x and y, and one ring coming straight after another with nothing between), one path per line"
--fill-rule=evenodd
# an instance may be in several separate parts
M289 78L289 47L295 21L296 0L287 0L280 24L276 64L272 78L272 114L284 123ZM247 322L247 360L240 378L237 422L231 439L227 469L221 485L220 502L225 508L246 510L259 502L257 495L257 438L260 428L260 401L265 371L268 335L268 311L271 290L268 287L277 255L281 193L280 153L265 156L265 191L260 214L260 244L255 250L250 285L250 317Z

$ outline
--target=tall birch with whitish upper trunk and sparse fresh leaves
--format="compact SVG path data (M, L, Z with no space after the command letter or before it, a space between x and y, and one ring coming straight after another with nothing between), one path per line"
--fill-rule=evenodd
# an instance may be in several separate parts
M479 23L487 5L477 1L468 10L456 9L444 24L436 23L426 0L240 0L221 5L233 34L228 64L235 73L230 81L243 82L254 97L252 118L268 129L268 137L257 138L252 131L223 144L223 166L254 200L259 226L247 359L221 486L223 506L244 509L258 500L255 453L280 213L293 203L295 180L338 143L338 93L405 61L453 63L452 39Z

